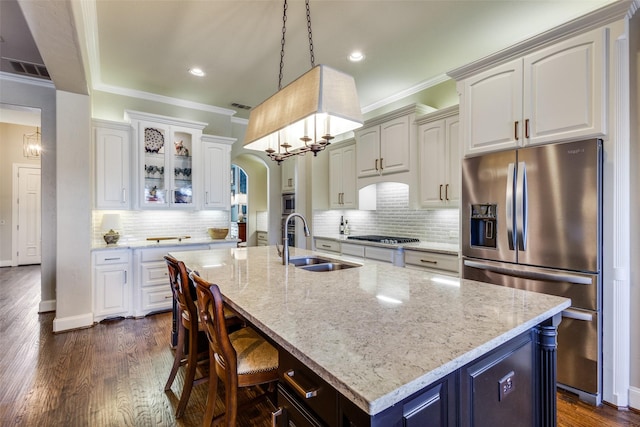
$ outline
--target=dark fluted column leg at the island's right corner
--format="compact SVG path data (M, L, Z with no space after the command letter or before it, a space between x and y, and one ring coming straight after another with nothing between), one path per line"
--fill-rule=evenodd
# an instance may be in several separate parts
M562 320L560 313L556 314L537 327L538 335L538 408L540 426L556 427L556 350L558 347L558 325Z

